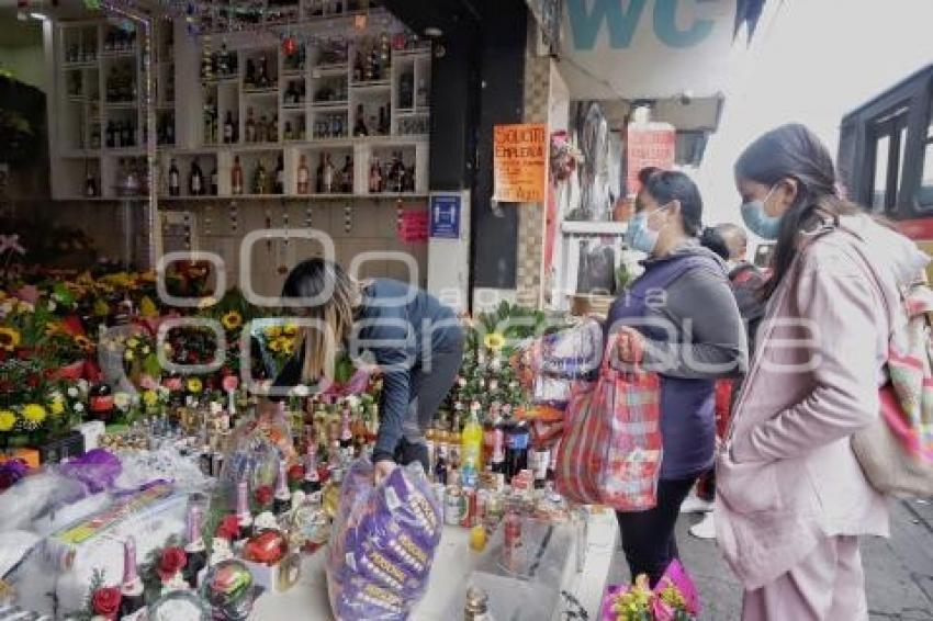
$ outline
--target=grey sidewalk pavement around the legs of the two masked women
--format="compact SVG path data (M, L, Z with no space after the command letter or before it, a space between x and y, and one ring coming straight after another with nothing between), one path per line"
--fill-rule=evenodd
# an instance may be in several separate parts
M677 544L700 590L700 621L739 621L739 582L715 541L687 532L699 519L699 515L681 516ZM892 501L891 538L863 540L862 560L872 621L933 621L933 500ZM609 569L609 584L628 580L628 574L619 550Z

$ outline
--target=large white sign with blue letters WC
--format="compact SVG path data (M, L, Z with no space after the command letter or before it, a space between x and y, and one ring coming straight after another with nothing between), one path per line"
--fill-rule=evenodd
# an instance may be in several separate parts
M735 3L565 0L564 50L572 61L561 71L578 99L711 95L724 87Z

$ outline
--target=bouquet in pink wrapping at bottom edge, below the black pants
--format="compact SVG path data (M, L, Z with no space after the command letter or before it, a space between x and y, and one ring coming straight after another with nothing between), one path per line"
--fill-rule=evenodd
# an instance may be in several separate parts
M633 585L615 585L603 596L602 621L695 621L699 595L687 571L675 560L652 589L644 574Z

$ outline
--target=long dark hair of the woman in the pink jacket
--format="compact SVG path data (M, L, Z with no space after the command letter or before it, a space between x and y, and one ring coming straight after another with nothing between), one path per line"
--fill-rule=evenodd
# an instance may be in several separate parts
M763 295L769 297L787 275L797 256L797 238L820 217L839 221L862 210L839 196L835 166L820 139L798 123L782 125L749 145L735 162L738 178L774 187L783 179L797 181L797 197L780 218L772 256L772 276Z

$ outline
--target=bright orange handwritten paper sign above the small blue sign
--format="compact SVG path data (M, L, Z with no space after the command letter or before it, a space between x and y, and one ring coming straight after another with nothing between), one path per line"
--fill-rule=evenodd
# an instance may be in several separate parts
M543 202L548 148L544 125L496 125L493 132L493 200L501 203Z

